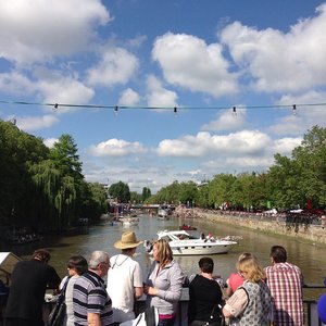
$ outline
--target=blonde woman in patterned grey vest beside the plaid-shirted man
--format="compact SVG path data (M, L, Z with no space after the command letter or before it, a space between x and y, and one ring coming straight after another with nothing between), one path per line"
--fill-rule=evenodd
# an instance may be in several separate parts
M254 255L240 259L237 268L244 281L224 305L224 316L230 325L268 326L272 298L264 269Z

